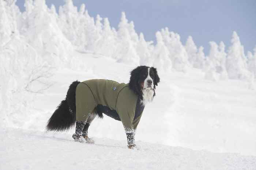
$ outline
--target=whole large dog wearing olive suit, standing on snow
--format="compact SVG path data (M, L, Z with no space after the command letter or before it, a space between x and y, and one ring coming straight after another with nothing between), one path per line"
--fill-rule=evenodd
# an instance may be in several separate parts
M148 66L133 69L128 84L103 79L74 81L48 120L46 130L65 131L76 124L72 138L94 143L88 137L88 128L97 115L103 118L104 113L123 123L128 148L134 148L137 125L145 105L153 101L159 82L157 69Z

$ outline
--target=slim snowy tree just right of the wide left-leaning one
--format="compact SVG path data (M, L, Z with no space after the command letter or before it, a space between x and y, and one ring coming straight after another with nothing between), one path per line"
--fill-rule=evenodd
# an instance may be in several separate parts
M195 64L196 61L196 53L197 53L197 47L193 41L192 36L188 36L186 45L185 45L185 49L188 53L188 61L191 63L191 65L193 66Z

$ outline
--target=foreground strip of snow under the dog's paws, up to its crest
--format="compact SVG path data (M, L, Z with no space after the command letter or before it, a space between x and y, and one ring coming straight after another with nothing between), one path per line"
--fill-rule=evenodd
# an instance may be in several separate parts
M1 170L255 170L256 157L194 151L139 141L129 150L125 140L95 138L95 144L74 142L70 135L0 130ZM2 136L3 135L3 136ZM3 147L5 146L5 147Z

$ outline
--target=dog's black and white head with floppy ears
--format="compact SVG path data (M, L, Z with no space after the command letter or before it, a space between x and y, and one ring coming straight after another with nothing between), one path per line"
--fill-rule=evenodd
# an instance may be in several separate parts
M154 91L155 86L160 82L160 78L157 74L157 69L148 66L138 66L131 72L129 81L129 88L142 98L143 90Z

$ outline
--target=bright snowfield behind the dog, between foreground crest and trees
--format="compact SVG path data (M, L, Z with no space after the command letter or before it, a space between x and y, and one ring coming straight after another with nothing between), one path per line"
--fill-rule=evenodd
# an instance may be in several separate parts
M72 81L107 78L128 82L129 71L133 69L130 65L117 63L108 57L84 53L74 55L87 66L80 68L79 71L59 70L50 78L53 85L34 98L34 102L31 103L34 108L30 114L20 115L19 119L23 125L19 124L16 127L27 130L25 132L32 130L43 133L47 120L65 97L68 85ZM192 70L187 74L159 73L159 76L161 82L157 86L157 96L153 103L146 105L144 109L136 132L136 141L194 150L256 155L256 92L248 89L247 82L207 81L200 70ZM73 133L74 129L62 134L71 141ZM61 136L57 133L49 134ZM119 144L126 147L122 124L108 116L103 120L94 120L89 128L90 136L97 138L98 141L106 140L105 138L110 141L120 140ZM139 146L143 147L144 143L139 143ZM72 144L70 147L72 148Z

